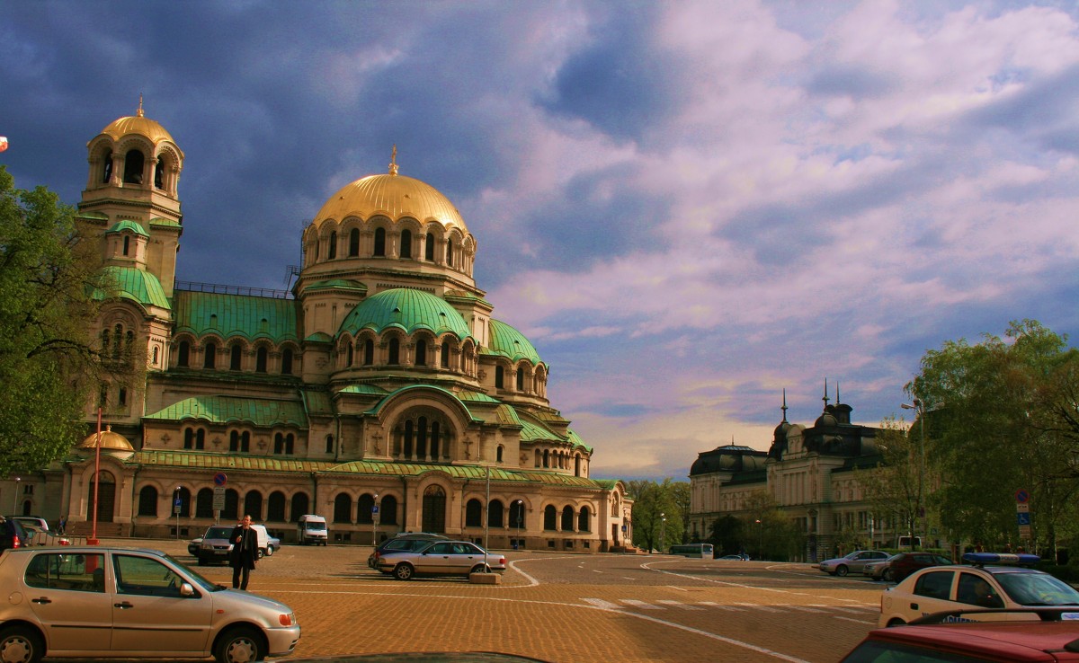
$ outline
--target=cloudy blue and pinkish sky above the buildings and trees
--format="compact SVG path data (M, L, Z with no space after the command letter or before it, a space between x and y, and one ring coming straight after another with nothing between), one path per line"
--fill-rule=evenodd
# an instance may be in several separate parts
M1079 327L1075 2L52 2L0 20L0 154L74 204L145 96L178 278L284 289L340 187L445 193L593 476L901 414L930 348Z

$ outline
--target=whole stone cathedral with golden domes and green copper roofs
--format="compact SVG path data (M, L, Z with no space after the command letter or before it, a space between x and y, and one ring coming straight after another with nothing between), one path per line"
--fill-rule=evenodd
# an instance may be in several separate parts
M17 512L98 536L194 537L246 513L287 542L313 513L330 542L626 547L626 485L590 478L550 367L473 278L476 238L396 150L317 210L287 291L176 280L185 155L141 101L87 152L77 222L114 286L93 337L147 374L101 386L86 439L14 482Z

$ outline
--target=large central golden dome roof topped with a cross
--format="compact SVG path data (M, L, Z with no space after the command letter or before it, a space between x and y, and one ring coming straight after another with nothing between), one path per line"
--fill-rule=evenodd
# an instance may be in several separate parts
M394 148L394 162L397 149ZM369 175L340 191L326 201L315 216L315 225L327 219L343 221L345 217L364 220L374 215L384 215L397 221L411 217L421 223L437 221L446 227L456 227L467 233L464 219L450 199L426 182L397 175L397 164L391 162L386 175Z

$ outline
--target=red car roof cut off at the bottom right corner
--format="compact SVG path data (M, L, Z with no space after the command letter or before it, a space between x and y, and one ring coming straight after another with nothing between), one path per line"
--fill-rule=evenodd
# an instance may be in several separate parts
M1079 612L998 610L995 621L974 621L983 612L952 610L911 625L871 631L841 663L1079 661L1079 632L1073 621Z

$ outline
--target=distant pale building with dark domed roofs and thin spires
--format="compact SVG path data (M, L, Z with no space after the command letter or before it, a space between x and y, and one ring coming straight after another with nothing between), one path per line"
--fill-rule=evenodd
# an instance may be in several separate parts
M857 533L865 545L888 544L894 533L873 523L871 508L855 476L876 467L877 428L851 424L852 409L828 402L812 426L783 420L767 452L726 444L701 452L689 468L689 535L708 539L712 525L732 515L752 519L753 494L766 492L805 534L804 560L831 556L839 531Z

